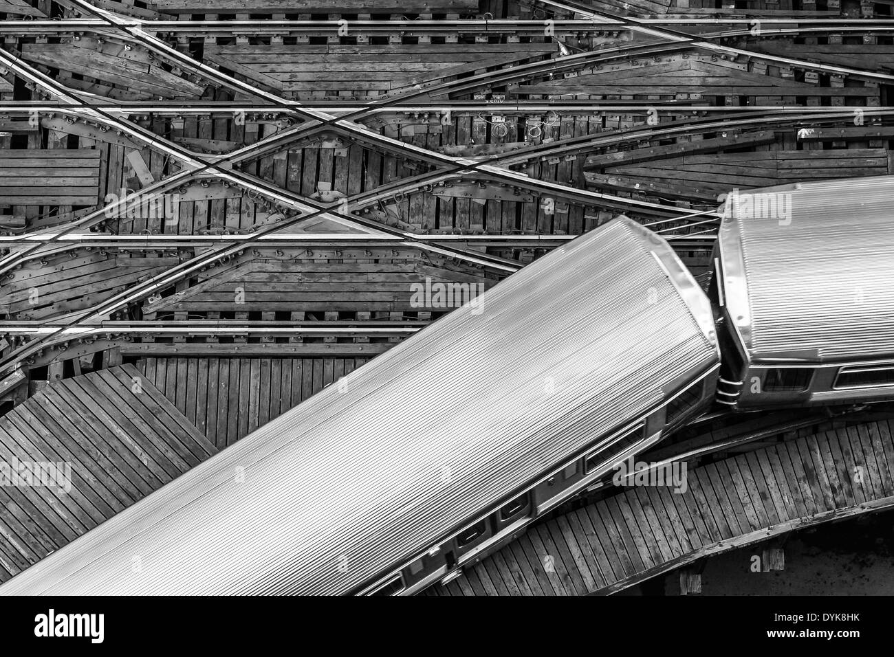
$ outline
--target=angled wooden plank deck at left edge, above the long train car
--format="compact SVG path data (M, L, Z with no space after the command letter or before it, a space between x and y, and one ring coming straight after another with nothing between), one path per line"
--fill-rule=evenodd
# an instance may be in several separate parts
M0 418L0 582L216 451L134 366L50 383ZM69 490L15 485L35 462L64 463Z

